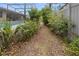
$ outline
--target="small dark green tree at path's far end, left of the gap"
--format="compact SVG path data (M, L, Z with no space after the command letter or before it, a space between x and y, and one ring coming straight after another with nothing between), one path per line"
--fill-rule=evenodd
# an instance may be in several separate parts
M28 13L31 20L39 21L41 13L36 8L32 8L31 10L28 11Z

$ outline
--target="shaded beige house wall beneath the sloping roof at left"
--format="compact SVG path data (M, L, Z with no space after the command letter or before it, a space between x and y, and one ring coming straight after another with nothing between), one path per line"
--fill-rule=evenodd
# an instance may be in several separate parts
M0 21L5 21L5 20L9 20L9 21L20 21L20 20L24 20L23 16L20 14L15 14L15 13L11 13L7 11L2 11L2 17L0 17Z

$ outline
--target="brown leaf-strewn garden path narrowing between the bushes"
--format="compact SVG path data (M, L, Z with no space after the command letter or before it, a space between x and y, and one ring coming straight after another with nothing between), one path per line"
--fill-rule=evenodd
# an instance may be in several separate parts
M12 45L5 55L39 56L65 55L65 43L46 27L42 26L31 41Z

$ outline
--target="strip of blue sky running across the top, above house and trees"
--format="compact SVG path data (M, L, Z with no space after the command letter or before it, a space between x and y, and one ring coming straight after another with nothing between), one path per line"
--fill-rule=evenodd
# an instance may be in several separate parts
M0 8L4 8L8 11L13 11L15 13L18 13L18 14L22 14L26 17L26 15L28 15L28 10L31 10L31 8L39 8L40 7L45 7L45 6L50 6L53 7L57 4L48 4L48 3L0 3ZM59 5L60 6L60 5ZM54 9L56 10L56 8L54 7ZM58 8L58 6L57 6Z

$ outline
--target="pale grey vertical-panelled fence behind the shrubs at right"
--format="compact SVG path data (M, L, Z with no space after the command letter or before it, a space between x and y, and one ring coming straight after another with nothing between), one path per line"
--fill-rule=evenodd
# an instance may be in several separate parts
M67 4L59 12L68 17L74 24L71 33L79 35L79 4Z

